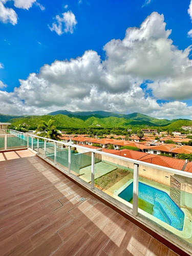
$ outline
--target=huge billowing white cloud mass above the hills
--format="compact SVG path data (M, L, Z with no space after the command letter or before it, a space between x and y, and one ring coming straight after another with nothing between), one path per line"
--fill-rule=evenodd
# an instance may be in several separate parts
M175 47L165 25L163 15L154 12L140 28L128 28L123 40L108 42L103 61L89 50L75 59L44 65L38 74L19 80L13 93L0 90L4 113L99 109L158 118L190 116L192 106L180 101L192 99L190 47L184 51ZM146 79L151 83L142 90ZM171 101L158 103L158 99Z

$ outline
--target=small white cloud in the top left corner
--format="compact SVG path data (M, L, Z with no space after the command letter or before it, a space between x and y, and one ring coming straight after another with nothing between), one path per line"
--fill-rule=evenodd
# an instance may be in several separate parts
M0 20L3 23L17 24L17 14L12 8L6 8L0 1Z

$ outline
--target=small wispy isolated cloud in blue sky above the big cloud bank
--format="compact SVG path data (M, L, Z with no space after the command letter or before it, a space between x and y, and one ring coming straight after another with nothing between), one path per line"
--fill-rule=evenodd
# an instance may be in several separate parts
M73 34L77 20L75 19L75 15L72 11L62 13L61 17L56 15L55 18L56 22L52 24L52 27L49 27L51 31L55 31L58 35L67 32Z

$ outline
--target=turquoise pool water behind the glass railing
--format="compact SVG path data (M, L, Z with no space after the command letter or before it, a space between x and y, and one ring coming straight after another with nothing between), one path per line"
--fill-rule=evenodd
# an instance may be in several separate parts
M184 213L167 193L142 182L139 182L138 192L138 207L140 209L178 230L183 229ZM132 203L133 182L118 196Z

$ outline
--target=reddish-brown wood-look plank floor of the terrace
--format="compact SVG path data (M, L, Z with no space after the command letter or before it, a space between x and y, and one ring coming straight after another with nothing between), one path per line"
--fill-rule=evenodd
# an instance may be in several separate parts
M1 255L177 255L29 150L0 153L0 198Z

